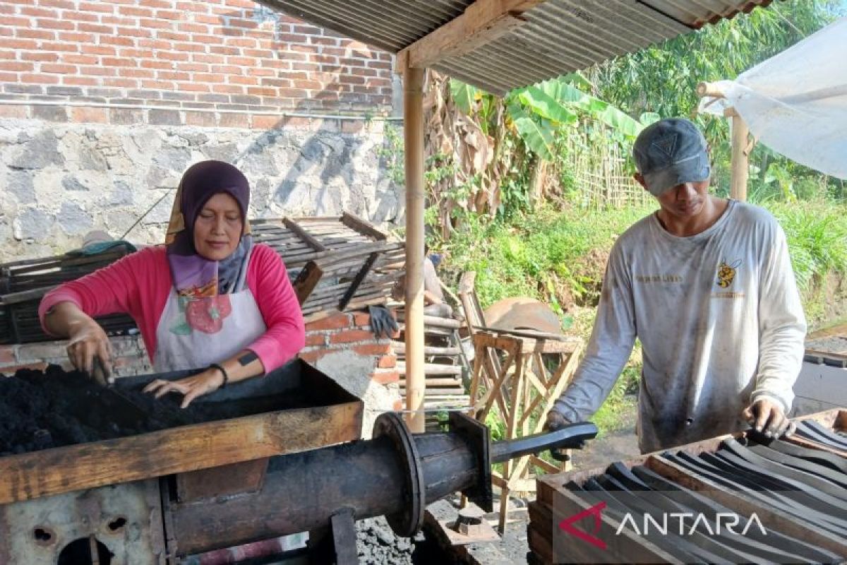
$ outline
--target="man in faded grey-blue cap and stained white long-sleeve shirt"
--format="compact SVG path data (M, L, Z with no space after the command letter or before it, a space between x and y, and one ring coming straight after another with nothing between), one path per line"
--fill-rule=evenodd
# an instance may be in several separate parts
M645 128L634 158L660 209L612 247L588 349L548 429L597 411L638 337L642 452L746 424L790 433L805 317L782 228L762 208L709 194L706 140L686 119Z

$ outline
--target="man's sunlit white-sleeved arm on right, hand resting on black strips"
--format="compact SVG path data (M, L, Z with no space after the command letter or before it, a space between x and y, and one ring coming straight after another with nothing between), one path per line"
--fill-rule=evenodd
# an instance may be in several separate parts
M788 428L784 417L794 402L792 389L803 363L804 340L805 315L800 292L785 234L776 225L759 283L759 372L749 408L756 428L765 429L771 435L782 435ZM770 402L772 409L755 409L761 401ZM767 413L775 409L782 413Z

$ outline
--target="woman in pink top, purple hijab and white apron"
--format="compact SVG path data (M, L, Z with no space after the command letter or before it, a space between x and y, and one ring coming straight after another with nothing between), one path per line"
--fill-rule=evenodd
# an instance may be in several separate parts
M44 296L48 333L69 338L68 356L111 374L108 337L93 317L129 313L157 372L203 368L145 391L184 395L182 407L230 382L265 374L304 345L300 305L280 256L253 245L250 187L229 163L192 165L174 198L165 246L148 247Z

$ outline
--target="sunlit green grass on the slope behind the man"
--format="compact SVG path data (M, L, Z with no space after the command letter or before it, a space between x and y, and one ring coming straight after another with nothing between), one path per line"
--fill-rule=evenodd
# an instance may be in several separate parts
M822 281L847 273L847 206L831 202L767 202L783 226L794 274L809 319L825 309ZM542 208L511 221L470 219L449 244L443 280L456 286L463 272L477 273L483 307L508 296L533 296L551 305L562 326L588 341L594 324L606 257L618 235L656 208L584 211ZM640 349L636 346L619 379L593 420L601 435L620 429L634 406ZM492 424L496 425L496 418Z

